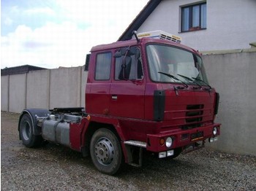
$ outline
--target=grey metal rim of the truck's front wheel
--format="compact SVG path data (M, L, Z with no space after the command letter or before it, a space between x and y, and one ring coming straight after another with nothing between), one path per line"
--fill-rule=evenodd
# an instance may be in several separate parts
M107 138L101 138L95 144L95 155L97 161L102 165L110 165L114 157L114 147Z

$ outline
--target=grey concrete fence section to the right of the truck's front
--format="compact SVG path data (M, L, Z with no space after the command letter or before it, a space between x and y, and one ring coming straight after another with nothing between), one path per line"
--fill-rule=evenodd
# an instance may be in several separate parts
M208 79L220 95L214 145L225 152L256 155L256 52L206 55Z

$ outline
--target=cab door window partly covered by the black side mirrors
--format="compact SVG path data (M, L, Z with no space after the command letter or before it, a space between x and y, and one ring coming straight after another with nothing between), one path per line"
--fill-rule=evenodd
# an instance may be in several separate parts
M116 58L115 79L143 79L143 67L140 56L140 49L136 48L134 53L127 53Z

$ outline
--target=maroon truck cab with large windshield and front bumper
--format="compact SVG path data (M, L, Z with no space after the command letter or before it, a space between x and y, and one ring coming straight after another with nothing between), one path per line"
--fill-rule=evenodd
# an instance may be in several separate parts
M184 147L217 136L218 104L200 53L189 47L149 36L91 49L86 112L118 119L123 141L159 152L166 147L151 142L170 137Z

